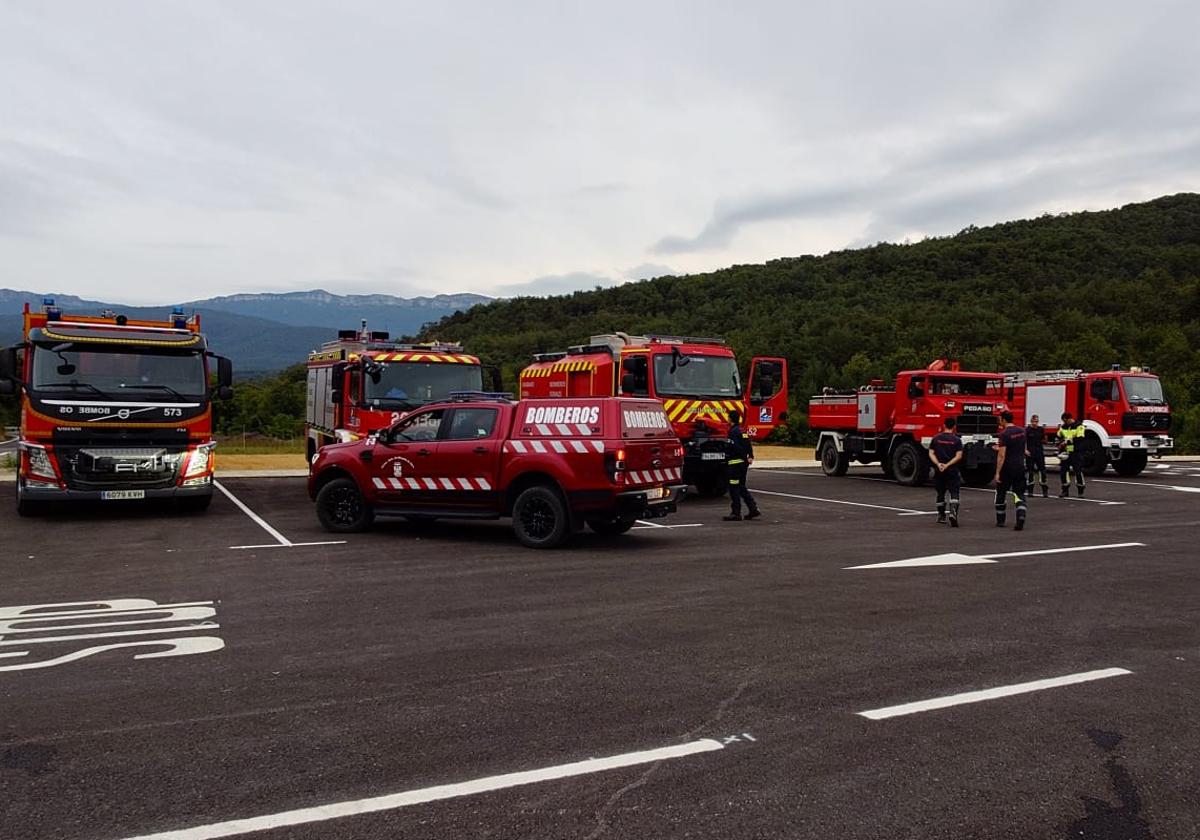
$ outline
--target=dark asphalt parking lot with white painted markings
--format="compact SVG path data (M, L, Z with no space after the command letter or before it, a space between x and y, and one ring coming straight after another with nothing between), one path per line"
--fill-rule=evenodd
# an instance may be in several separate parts
M553 552L5 499L0 838L1200 836L1200 463L1020 533L881 478Z

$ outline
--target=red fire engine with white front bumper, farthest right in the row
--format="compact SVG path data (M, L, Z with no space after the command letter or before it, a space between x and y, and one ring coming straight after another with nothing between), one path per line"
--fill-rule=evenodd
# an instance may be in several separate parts
M1175 446L1169 432L1171 409L1158 377L1141 368L1016 371L1004 374L1018 422L1034 414L1057 431L1063 412L1084 424L1082 461L1088 475L1103 475L1109 463L1120 475L1138 475L1150 456Z

